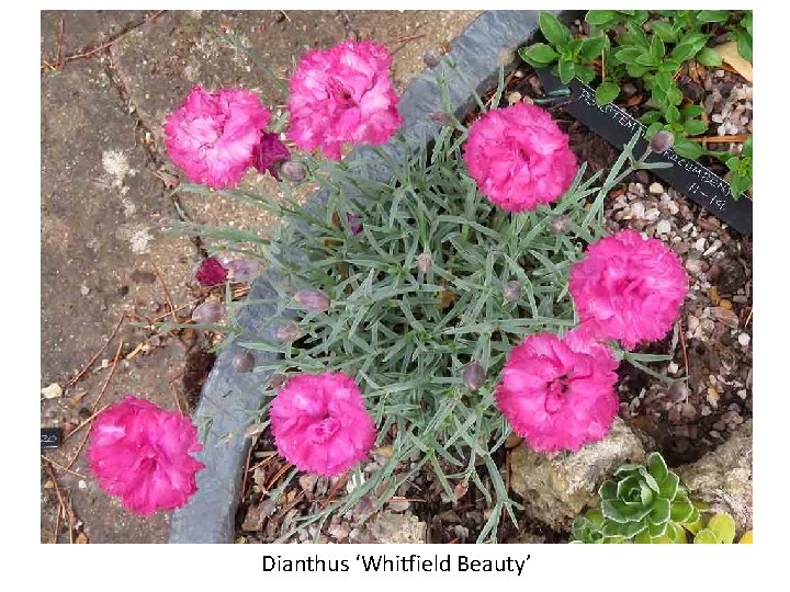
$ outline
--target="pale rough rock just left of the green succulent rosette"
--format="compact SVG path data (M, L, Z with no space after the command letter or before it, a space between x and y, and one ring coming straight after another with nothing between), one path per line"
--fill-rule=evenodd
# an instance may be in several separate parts
M567 530L578 514L598 503L598 487L614 469L644 457L640 439L616 418L607 437L574 454L549 456L521 444L510 458L510 483L530 517Z

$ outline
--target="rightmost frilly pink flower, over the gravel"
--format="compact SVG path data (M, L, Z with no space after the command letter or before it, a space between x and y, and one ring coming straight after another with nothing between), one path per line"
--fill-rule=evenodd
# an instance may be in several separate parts
M623 230L591 244L571 267L568 289L582 323L632 349L662 339L688 293L680 259L661 240Z

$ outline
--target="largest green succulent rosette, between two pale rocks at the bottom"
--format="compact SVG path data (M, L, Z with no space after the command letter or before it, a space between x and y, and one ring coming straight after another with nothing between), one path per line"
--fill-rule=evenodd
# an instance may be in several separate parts
M661 454L651 453L646 465L622 465L614 478L598 490L605 537L634 543L686 543L681 524L698 520L699 511Z

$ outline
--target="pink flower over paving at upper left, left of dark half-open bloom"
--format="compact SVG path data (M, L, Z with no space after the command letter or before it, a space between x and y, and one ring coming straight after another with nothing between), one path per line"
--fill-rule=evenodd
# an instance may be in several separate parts
M165 122L170 159L193 183L233 187L252 163L269 110L244 89L195 87Z

